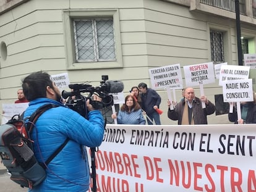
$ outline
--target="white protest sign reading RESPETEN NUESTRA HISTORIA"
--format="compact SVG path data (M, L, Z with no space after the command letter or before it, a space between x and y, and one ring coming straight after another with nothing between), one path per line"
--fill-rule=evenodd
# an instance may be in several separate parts
M183 67L186 86L198 86L215 82L213 62Z

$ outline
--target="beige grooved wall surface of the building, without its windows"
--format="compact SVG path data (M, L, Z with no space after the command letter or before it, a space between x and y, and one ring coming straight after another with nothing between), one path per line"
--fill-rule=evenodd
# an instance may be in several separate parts
M107 74L110 80L124 81L125 93L141 81L150 86L148 69L152 67L209 62L212 28L226 31L225 60L237 64L235 20L190 10L188 1L182 2L184 6L159 0L31 0L1 14L0 43L7 44L7 59L0 56L0 104L13 102L20 80L38 70L53 75L68 72L71 83L92 81L93 85L99 85L101 75ZM65 48L63 10L69 9L118 10L123 67L67 70L71 53ZM242 23L242 33L252 38L256 36L254 28ZM215 94L222 93L217 81L204 87L212 102ZM199 96L198 88L196 91ZM176 124L167 118L166 91L158 93L163 100L162 123ZM176 97L181 98L180 91ZM211 115L209 123L228 123L228 118Z

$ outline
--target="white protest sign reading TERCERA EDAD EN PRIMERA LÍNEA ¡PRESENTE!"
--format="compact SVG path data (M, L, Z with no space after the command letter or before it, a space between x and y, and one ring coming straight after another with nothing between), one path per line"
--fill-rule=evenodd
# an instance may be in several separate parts
M166 87L171 88L171 90L182 89L183 81L179 64L156 67L148 71L154 90Z

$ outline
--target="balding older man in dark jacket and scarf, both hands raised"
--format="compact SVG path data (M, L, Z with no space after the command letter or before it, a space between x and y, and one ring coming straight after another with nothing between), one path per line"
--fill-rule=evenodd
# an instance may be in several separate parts
M171 102L168 101L168 117L178 120L178 125L200 125L207 124L207 115L215 112L215 105L206 96L195 97L193 88L184 89L184 97L173 110L170 109ZM202 107L205 102L205 108Z

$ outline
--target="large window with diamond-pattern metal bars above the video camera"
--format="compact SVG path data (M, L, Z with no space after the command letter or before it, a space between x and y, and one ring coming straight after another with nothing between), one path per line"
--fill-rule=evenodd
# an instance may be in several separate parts
M74 20L77 62L116 61L113 18Z

